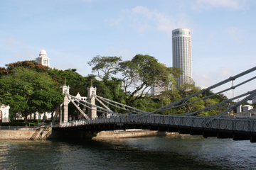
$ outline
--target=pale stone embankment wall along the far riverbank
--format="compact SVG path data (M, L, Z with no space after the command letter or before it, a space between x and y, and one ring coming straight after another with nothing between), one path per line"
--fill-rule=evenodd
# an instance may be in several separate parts
M83 132L79 135L81 139L92 138L127 138L127 137L150 137L150 136L166 136L178 135L177 132L159 132L155 130L110 130L101 131L92 134L91 132ZM0 130L0 140L54 140L61 139L63 134L55 130L45 130L41 135L38 130ZM70 138L69 138L70 139Z

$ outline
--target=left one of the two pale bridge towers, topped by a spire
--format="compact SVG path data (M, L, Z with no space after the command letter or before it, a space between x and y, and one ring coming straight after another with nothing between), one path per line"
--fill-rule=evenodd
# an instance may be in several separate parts
M63 85L63 94L69 94L69 86ZM60 105L60 123L68 122L68 97L65 95L63 103Z

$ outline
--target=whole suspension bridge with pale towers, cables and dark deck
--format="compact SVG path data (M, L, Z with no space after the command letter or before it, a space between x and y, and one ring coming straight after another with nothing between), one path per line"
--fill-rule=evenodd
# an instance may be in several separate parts
M181 98L174 103L163 106L156 111L146 112L138 108L111 101L102 96L97 96L97 89L90 86L87 89L87 97L80 94L72 96L69 94L69 86L64 85L63 93L65 98L60 104L60 124L55 125L53 130L62 132L63 136L76 137L82 135L83 132L100 132L102 130L126 130L126 129L142 129L142 130L159 130L166 132L178 132L180 134L203 135L203 137L232 138L233 140L250 140L256 142L256 117L238 117L227 115L230 111L235 110L238 106L246 101L256 97L256 89L247 91L244 94L233 96L233 98L216 103L192 113L183 113L181 115L159 115L161 111L171 110L174 108L186 106L188 104L211 98L226 91L234 90L238 86L243 86L248 82L256 79L250 77L241 83L234 85L234 81L238 78L254 72L256 67L248 69L245 72L229 77L218 84L214 84L206 89L198 91L191 96ZM215 94L206 96L207 91L211 91L223 84L232 82L232 86L228 89L218 91ZM203 98L188 102L188 99L205 94ZM241 99L242 98L242 99ZM231 102L240 99L238 102ZM97 106L96 101L100 103ZM68 103L78 108L80 116L78 120L68 121ZM231 104L230 104L231 103ZM83 108L81 108L82 106ZM108 106L119 108L129 112L129 114L121 114L112 111ZM199 116L198 113L226 108L225 111L215 116ZM97 117L97 113L103 116ZM256 114L256 113L252 113Z

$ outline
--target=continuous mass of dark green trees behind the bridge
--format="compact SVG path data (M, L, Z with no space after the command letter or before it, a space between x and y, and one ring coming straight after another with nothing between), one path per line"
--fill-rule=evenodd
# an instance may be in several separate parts
M53 114L58 103L63 101L60 86L65 84L70 86L70 94L73 96L78 93L80 96L87 96L87 88L93 86L97 88L98 96L125 103L143 111L155 111L157 108L199 91L194 84L183 84L176 89L175 77L181 74L181 70L166 67L150 55L136 55L132 60L124 62L121 57L96 56L88 64L94 66L92 72L97 72L97 76L90 74L87 77L82 77L76 72L76 69L64 71L49 69L34 61L6 64L6 69L0 67L1 103L11 106L12 118L17 112L22 113L25 118L36 111L41 113L47 111ZM114 77L117 73L122 74L122 79ZM99 77L100 80L96 77ZM161 95L152 98L147 91L150 86L161 86L166 90L161 92ZM195 96L183 103L195 101L211 94L213 94L212 91L207 91L206 94ZM191 113L225 99L227 99L226 96L219 94L157 114ZM96 104L101 106L98 101ZM127 113L127 111L114 106L108 107L117 113ZM80 108L82 109L83 106L80 105ZM220 108L217 111L201 112L198 115L217 115L224 110L225 108ZM75 118L80 115L72 103L69 105L69 114Z

